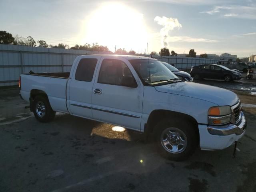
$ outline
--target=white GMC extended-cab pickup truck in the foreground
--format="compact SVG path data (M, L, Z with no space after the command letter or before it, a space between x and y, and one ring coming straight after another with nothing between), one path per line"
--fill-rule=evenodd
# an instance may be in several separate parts
M246 130L236 94L183 82L147 57L78 56L70 73L21 74L20 86L40 122L63 112L144 132L171 160L188 158L198 146L227 148Z

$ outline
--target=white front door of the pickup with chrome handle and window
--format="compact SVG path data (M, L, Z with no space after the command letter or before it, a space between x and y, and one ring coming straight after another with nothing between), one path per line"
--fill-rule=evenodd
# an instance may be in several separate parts
M122 86L121 80L125 76L133 77L137 86ZM140 130L143 91L144 86L128 60L102 56L93 86L93 118Z

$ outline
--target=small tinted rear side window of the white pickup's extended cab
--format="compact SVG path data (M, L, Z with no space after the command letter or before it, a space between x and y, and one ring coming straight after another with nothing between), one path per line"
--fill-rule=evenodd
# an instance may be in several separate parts
M76 68L75 80L88 82L92 81L97 61L97 59L93 58L81 59Z

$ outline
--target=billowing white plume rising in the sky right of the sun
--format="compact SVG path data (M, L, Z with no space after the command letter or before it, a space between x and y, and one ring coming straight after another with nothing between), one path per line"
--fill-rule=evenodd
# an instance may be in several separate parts
M179 23L177 18L167 18L165 16L163 17L156 16L154 18L154 21L156 21L157 24L164 26L160 30L160 34L162 36L162 42L164 46L168 45L168 42L166 41L166 39L169 37L169 32L174 30L174 28L178 28L178 29L182 28L182 25Z

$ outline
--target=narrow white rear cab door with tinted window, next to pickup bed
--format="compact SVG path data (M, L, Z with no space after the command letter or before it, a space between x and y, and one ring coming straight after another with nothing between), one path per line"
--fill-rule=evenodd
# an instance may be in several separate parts
M92 87L101 56L81 57L68 85L70 114L92 118Z

